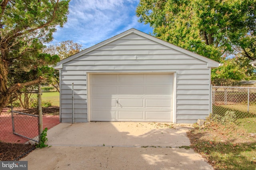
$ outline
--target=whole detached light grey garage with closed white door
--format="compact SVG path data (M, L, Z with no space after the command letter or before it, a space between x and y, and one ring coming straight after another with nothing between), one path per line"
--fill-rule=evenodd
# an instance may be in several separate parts
M218 65L129 29L57 64L60 121L195 123L210 113Z

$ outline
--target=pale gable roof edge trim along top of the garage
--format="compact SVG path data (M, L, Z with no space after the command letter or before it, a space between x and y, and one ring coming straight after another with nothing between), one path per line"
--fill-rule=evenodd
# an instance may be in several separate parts
M129 34L131 34L131 33L135 33L135 34L137 34L137 35L139 35L139 36L141 36L141 37L144 37L144 38L146 38L146 39L149 39L149 40L151 40L151 41L154 41L154 42L159 43L159 44L161 44L161 45L164 45L164 46L166 46L166 47L172 48L172 49L174 49L174 50L180 51L180 52L182 52L182 53L184 53L184 54L186 54L186 55L189 55L189 56L194 57L194 58L196 58L196 59L199 59L199 60L201 60L201 61L204 61L204 62L207 63L207 66L208 66L208 67L213 67L213 68L214 68L214 67L218 67L219 64L220 64L220 63L218 63L218 62L216 62L216 61L214 61L214 60L212 60L212 59L208 59L207 57L198 55L198 54L196 54L196 53L192 53L191 51L188 51L188 50L183 49L183 48L181 48L181 47L178 47L178 46L176 46L176 45L170 44L170 43L168 43L168 42L166 42L166 41L163 41L163 40L161 40L161 39L158 39L158 38L156 38L156 37L153 37L152 35L148 35L148 34L146 34L146 33L143 33L143 32L141 32L141 31L138 31L137 29L132 28L132 29L129 29L129 30L123 32L123 33L120 33L119 35L116 35L116 36L114 36L114 37L112 37L112 38L110 38L110 39L107 39L107 40L105 40L105 41L103 41L103 42L101 42L101 43L98 43L98 44L96 44L96 45L94 45L94 46L92 46L92 47L90 47L90 48L88 48L88 49L85 49L85 50L83 50L83 51L81 51L81 52L79 52L79 53L76 53L75 55L72 55L72 56L70 56L70 57L68 57L68 58L66 58L66 59L63 59L62 61L58 62L57 65L56 65L54 68L55 68L55 69L60 69L60 68L62 68L62 64L67 63L67 62L69 62L69 61L72 61L73 59L76 59L77 57L80 57L80 56L82 56L82 55L84 55L84 54L86 54L86 53L89 53L89 52L91 52L91 51L94 51L95 49L98 49L98 48L100 48L100 47L102 47L102 46L104 46L104 45L107 45L108 43L111 43L111 42L113 42L113 41L116 41L116 40L118 40L118 39L120 39L120 38L122 38L122 37L125 37L125 36L127 36L127 35L129 35Z

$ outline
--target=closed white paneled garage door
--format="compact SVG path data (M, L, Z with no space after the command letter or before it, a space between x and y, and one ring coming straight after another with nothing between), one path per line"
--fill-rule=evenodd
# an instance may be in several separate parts
M173 74L90 74L91 121L172 121Z

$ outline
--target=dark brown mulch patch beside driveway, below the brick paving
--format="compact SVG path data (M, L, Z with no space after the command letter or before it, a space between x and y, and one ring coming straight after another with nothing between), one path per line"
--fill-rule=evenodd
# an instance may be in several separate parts
M0 161L19 160L26 153L35 149L32 145L18 143L0 143Z

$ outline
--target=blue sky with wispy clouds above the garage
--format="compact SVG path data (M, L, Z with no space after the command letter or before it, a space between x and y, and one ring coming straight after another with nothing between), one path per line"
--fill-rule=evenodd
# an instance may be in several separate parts
M128 29L152 33L149 25L138 22L135 11L140 0L71 0L68 22L53 34L58 43L73 40L91 47Z

